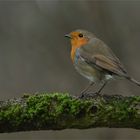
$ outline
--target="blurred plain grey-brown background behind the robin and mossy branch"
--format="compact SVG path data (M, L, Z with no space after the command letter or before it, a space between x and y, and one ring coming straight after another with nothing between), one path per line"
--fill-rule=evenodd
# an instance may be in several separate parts
M0 99L23 93L78 95L88 81L74 69L70 42L75 29L94 32L140 80L140 1L0 1ZM116 80L106 94L139 95L140 88ZM134 129L88 129L0 134L0 140L139 140Z

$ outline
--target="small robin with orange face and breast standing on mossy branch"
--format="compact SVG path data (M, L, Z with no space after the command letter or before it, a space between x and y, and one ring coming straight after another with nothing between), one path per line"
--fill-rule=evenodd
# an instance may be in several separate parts
M86 30L75 30L65 37L71 41L71 59L76 70L90 83L81 92L82 96L95 83L101 84L96 93L100 93L107 82L123 77L140 86L140 82L130 77L113 51L93 33Z

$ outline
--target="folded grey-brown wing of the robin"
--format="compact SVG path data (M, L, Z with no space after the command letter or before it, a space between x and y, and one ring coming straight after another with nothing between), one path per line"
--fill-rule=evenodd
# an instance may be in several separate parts
M119 76L127 77L127 72L117 57L109 57L101 54L91 54L84 49L79 49L80 57L90 66L97 67L99 70L105 70Z

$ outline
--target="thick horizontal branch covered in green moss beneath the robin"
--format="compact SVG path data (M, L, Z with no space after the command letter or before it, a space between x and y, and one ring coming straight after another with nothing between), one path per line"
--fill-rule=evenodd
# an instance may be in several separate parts
M140 96L24 95L0 102L0 133L30 130L140 129Z

